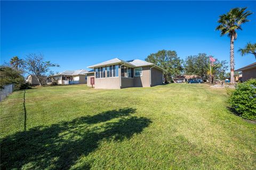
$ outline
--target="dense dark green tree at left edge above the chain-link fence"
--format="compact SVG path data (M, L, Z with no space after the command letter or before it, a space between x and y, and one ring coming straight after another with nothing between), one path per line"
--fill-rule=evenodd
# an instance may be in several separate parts
M25 87L25 78L21 75L21 71L7 66L0 66L0 88L5 85L14 84L15 90Z

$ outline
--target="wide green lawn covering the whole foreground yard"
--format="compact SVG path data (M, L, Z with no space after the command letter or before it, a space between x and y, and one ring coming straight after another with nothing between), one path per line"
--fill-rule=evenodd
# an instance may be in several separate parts
M52 86L27 90L24 104L23 95L1 102L1 169L256 169L256 124L227 109L225 89Z

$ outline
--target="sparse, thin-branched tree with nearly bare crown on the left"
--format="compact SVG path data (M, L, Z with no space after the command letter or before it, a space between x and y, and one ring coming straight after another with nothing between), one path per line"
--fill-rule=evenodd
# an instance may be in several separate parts
M43 54L30 53L25 60L25 68L36 76L40 86L42 86L43 76L50 71L50 67L59 67L59 65L44 61Z

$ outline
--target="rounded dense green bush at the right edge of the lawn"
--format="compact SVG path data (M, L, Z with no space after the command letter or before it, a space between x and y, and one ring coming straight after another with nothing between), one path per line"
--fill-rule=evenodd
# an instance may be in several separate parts
M256 79L236 85L234 91L229 91L229 104L245 119L256 120Z

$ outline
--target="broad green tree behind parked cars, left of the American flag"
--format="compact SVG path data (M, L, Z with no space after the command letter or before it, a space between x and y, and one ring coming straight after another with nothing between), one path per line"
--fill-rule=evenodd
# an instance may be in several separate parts
M187 56L185 60L185 73L205 77L208 70L209 56L205 53ZM207 78L207 77L205 77Z

